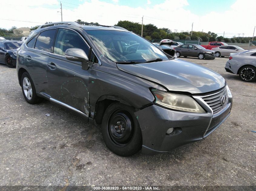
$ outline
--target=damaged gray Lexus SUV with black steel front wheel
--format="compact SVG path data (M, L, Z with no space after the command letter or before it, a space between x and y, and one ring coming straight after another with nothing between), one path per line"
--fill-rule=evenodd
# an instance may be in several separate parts
M17 74L28 103L47 99L101 124L105 144L121 156L201 140L232 106L221 75L116 26L42 25L18 51Z

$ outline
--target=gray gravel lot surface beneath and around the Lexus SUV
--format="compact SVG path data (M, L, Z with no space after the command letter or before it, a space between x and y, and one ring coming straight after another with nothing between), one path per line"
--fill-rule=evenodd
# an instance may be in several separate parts
M0 64L0 185L255 186L256 83L225 72L228 58L181 59L226 79L234 101L231 115L204 140L127 158L108 150L98 126L48 101L28 104L16 69Z

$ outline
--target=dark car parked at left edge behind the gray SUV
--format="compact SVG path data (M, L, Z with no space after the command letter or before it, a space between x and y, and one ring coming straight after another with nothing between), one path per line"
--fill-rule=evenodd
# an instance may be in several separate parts
M0 62L8 67L16 66L17 49L22 45L20 41L5 40L0 42Z

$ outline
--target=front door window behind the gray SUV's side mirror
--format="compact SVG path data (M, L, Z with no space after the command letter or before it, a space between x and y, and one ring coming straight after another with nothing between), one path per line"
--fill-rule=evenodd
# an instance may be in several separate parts
M59 29L56 36L53 53L64 56L65 51L69 48L80 48L84 50L87 55L89 52L88 45L78 33L68 29Z

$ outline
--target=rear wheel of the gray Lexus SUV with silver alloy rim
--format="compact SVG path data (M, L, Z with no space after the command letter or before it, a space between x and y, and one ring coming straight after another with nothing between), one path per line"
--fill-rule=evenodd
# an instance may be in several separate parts
M22 93L25 100L30 104L36 104L43 100L43 98L38 97L36 95L34 83L28 74L28 72L24 72L21 77L21 87Z

